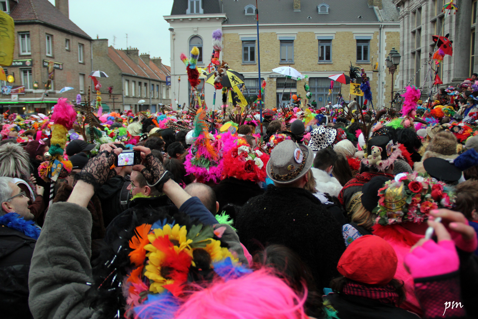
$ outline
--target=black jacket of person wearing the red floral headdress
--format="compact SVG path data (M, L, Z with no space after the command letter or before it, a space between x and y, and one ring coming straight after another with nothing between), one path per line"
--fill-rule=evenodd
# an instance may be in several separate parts
M250 198L264 194L256 182L240 180L234 177L224 178L219 184L212 187L219 202L219 213L228 204L242 206ZM235 216L231 216L232 219Z

